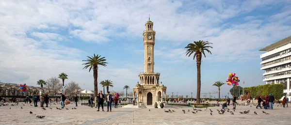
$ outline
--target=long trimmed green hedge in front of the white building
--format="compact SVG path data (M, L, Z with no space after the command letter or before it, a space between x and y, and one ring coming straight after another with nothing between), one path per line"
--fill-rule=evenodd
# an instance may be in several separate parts
M273 94L275 99L280 99L284 95L283 84L266 84L253 87L245 87L244 90L249 91L251 93L251 97Z

